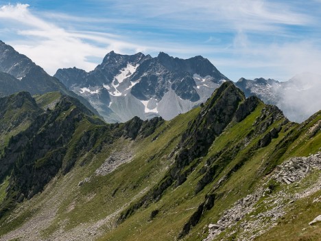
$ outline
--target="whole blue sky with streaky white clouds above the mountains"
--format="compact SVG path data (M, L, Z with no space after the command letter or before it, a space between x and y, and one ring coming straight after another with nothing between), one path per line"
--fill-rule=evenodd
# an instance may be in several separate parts
M109 51L202 55L231 80L321 74L321 0L0 0L0 39L48 73Z

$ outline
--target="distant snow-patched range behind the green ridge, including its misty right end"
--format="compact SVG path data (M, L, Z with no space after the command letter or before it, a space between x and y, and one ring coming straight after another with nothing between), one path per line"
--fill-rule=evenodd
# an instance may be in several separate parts
M58 69L54 76L91 102L107 122L126 122L134 116L172 119L206 101L229 80L202 56L183 60L163 52L152 58L112 51L93 71ZM318 94L311 95L311 90L320 88L320 82L321 76L305 73L287 82L241 78L235 84L247 97L257 95L264 102L279 106L293 121L302 122L320 109ZM309 87L304 89L302 85ZM293 99L291 95L302 103L288 100Z

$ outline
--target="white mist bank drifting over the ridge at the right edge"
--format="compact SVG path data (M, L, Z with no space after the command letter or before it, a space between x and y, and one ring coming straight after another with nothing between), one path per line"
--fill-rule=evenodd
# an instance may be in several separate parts
M293 122L304 122L321 110L321 76L318 74L300 73L272 90L278 97L276 106Z

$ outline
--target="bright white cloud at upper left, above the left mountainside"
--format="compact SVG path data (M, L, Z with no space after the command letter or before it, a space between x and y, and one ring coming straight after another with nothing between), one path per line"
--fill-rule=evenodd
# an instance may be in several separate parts
M97 64L88 59L103 58L111 50L123 52L123 49L142 49L139 45L121 41L121 36L116 34L66 30L36 16L30 12L27 4L3 5L0 19L14 25L17 34L32 39L10 41L10 44L50 74L62 67L94 69Z

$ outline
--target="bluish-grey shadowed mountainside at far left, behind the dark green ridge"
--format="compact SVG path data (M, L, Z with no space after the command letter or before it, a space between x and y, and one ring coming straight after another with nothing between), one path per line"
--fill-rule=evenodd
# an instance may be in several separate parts
M19 54L2 41L0 41L0 84L0 97L18 91L27 91L32 95L60 91L64 95L78 98L98 115L84 97L69 91L58 79L49 76L27 56Z

